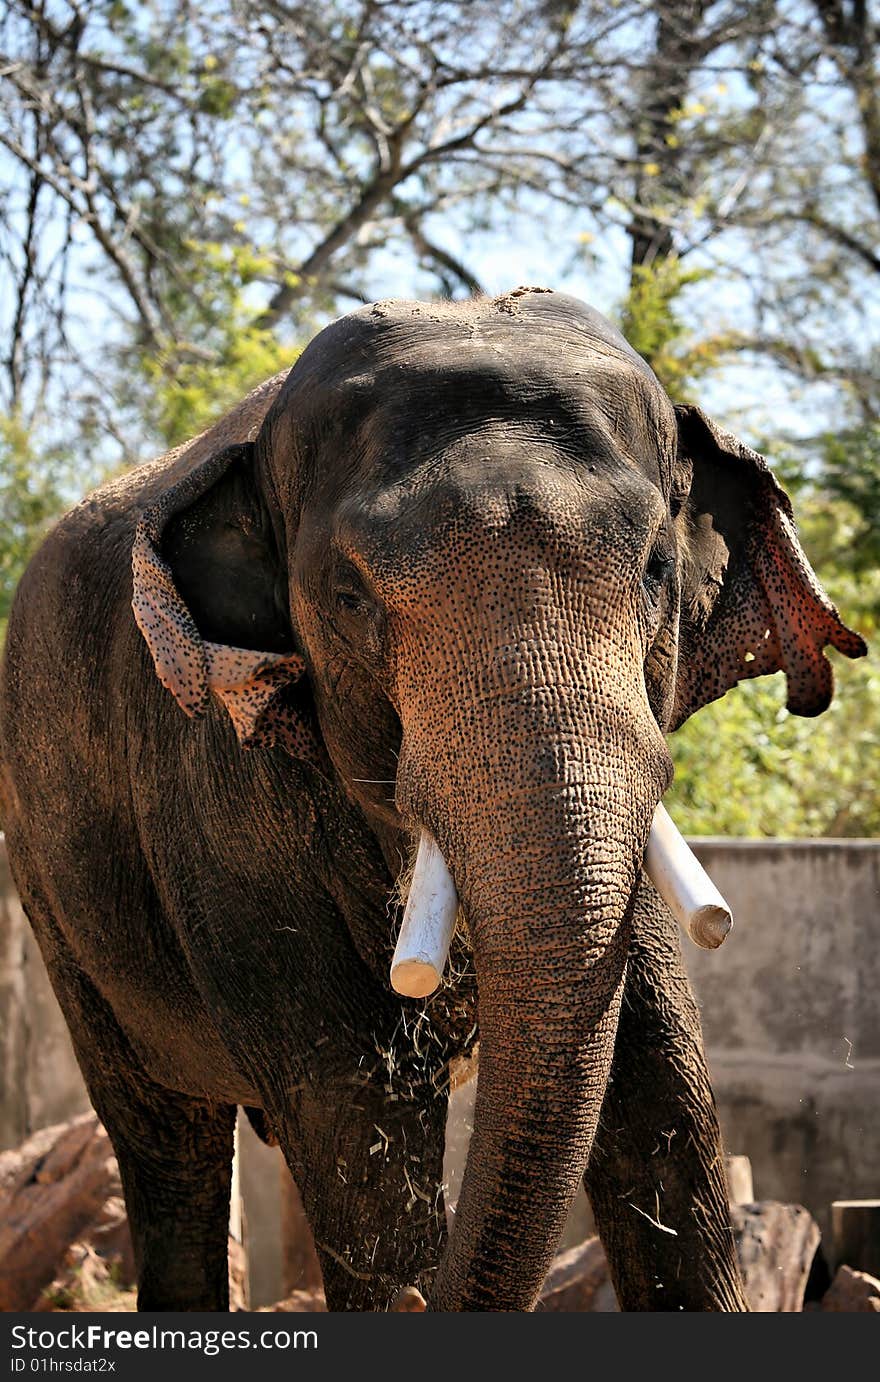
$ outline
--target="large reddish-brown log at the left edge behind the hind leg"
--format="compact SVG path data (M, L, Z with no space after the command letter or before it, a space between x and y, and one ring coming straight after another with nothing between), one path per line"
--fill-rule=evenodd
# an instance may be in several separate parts
M95 1114L0 1153L0 1310L30 1309L68 1247L117 1194L116 1158Z

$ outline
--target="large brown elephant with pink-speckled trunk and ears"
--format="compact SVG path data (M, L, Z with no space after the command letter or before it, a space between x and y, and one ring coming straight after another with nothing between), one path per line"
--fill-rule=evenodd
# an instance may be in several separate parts
M623 1310L747 1310L642 858L667 735L778 670L821 713L829 644L865 652L767 462L550 289L359 308L72 509L8 625L3 818L138 1307L228 1309L242 1106L330 1310L533 1310L582 1182ZM413 1001L388 967L421 831L460 915Z

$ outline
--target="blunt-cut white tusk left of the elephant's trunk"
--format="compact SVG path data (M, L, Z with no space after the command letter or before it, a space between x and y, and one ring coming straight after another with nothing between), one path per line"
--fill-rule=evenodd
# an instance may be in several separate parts
M439 844L421 832L401 934L391 960L391 987L405 998L427 998L439 985L456 929L459 896Z

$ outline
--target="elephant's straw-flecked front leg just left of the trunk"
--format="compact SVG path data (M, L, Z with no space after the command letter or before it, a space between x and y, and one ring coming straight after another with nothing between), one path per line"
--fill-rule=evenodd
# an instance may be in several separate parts
M428 1294L446 1242L446 1104L430 1082L390 1099L354 1078L315 1081L279 1122L329 1310L387 1310L402 1287Z

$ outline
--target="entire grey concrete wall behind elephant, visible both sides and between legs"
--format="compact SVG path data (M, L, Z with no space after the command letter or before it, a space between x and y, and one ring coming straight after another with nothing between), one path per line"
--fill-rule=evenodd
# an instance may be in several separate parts
M826 1227L832 1200L880 1195L880 840L692 843L736 918L718 951L684 941L727 1150L752 1158L758 1198L804 1204ZM87 1107L1 836L0 1078L0 1150ZM453 1186L471 1095L455 1103ZM286 1169L245 1119L240 1150L264 1305L280 1295ZM572 1234L586 1222L582 1201Z

